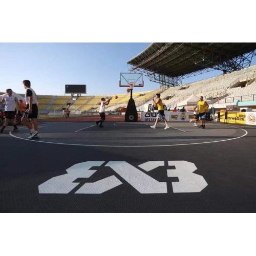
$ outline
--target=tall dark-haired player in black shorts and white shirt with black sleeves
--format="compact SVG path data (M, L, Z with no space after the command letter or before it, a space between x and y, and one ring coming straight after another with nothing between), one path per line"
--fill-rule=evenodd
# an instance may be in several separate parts
M29 139L38 138L38 125L37 125L37 115L38 115L38 108L37 108L37 97L34 90L30 87L30 81L24 80L23 81L24 87L26 89L25 93L25 101L27 103L25 112L22 116L22 122L28 127L30 130ZM31 119L32 124L28 121L28 118Z

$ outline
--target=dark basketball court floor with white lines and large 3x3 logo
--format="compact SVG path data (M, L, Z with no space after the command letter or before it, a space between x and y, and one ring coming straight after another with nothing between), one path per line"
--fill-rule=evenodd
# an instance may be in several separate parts
M150 125L53 121L39 139L4 134L2 211L255 211L255 129Z

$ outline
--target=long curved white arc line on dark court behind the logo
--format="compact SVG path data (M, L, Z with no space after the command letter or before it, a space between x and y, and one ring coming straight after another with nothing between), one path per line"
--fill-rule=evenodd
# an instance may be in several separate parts
M56 144L56 145L70 145L70 146L94 146L94 147L162 147L162 146L186 146L186 145L199 145L199 144L208 144L208 143L217 143L217 142L223 142L223 141L229 141L229 140L236 140L240 139L242 137L245 137L248 132L242 128L236 127L237 129L240 129L244 131L245 133L239 137L231 138L231 139L226 139L226 140L216 140L216 141L206 141L206 142L196 142L196 143L185 143L185 144L170 144L170 145L91 145L91 144L69 144L69 143L59 143L59 142L49 142L49 141L39 141L39 140L31 140L31 139L25 139L21 137L17 137L12 134L10 131L9 134L17 139L21 140L28 140L28 141L33 141L33 142L40 142L40 143L47 143L47 144Z

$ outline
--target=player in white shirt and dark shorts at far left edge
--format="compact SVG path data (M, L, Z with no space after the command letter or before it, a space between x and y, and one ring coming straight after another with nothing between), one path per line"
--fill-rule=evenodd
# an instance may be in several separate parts
M6 114L6 120L5 123L2 127L2 129L0 130L0 133L3 133L5 130L5 127L11 123L14 127L14 129L12 131L18 131L18 127L16 126L15 122L14 122L14 117L15 117L15 109L16 106L19 110L19 102L17 97L12 95L12 89L7 89L6 90L6 94L3 96L2 101L0 102L0 104L5 102L5 114Z

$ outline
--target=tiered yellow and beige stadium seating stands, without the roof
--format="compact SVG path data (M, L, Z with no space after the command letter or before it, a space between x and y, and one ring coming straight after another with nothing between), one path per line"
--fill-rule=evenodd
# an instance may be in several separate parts
M181 86L162 86L155 91L135 92L133 96L137 110L147 109L147 105L151 103L156 93L161 93L169 110L179 106L180 102L192 94L204 96L206 101L214 102L216 109L226 109L227 105L251 106L256 109L256 65ZM24 94L19 95L24 97ZM106 106L107 112L125 108L130 98L127 93L117 94L117 96L117 99L113 98L109 106ZM108 95L79 96L75 100L71 96L38 95L37 99L41 114L61 112L63 108L82 113L97 112L102 97L108 97Z

